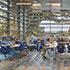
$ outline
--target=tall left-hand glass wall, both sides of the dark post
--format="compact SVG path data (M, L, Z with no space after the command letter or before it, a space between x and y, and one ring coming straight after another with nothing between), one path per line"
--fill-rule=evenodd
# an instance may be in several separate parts
M16 8L13 0L0 0L0 36L7 35L7 31L11 36L19 35Z

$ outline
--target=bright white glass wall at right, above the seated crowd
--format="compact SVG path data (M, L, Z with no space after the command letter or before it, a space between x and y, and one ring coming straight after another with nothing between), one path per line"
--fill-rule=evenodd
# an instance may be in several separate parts
M39 27L42 27L44 31L48 33L68 32L70 29L70 12L61 12L62 13L52 13L51 17L48 14L49 19L41 21Z

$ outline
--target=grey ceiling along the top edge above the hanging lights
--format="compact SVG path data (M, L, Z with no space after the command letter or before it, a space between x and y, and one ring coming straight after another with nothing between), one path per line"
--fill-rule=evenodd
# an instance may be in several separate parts
M48 6L46 5L46 3L62 3L62 8L63 9L70 9L70 0L15 0L17 2L33 2L33 1L37 1L38 3L42 4L43 9L46 9Z

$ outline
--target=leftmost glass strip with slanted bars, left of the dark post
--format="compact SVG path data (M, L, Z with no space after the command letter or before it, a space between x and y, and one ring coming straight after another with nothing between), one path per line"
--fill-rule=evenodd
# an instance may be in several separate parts
M5 35L7 23L7 2L0 0L0 36Z

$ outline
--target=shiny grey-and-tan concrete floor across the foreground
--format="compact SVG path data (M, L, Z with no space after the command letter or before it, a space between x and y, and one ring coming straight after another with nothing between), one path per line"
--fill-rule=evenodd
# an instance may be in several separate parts
M42 59L41 52L33 51L29 54L31 54L30 58L22 56L1 61L0 70L70 70L70 60L66 60L69 64L64 65L62 60L53 60L53 54L47 60Z

